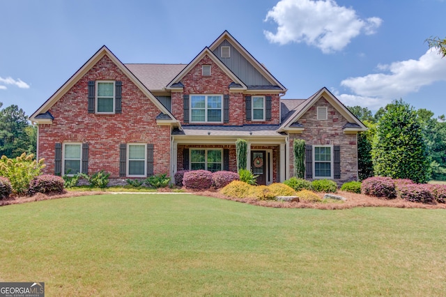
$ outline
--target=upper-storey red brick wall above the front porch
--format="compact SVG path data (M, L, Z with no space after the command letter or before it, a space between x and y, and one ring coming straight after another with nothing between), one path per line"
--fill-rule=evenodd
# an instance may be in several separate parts
M201 75L201 66L210 65L210 76ZM183 92L172 93L172 113L184 124L183 119L183 95L190 94L222 94L229 95L229 123L221 125L243 125L243 124L279 124L280 122L280 102L278 94L262 94L261 96L271 96L271 121L246 121L245 97L242 93L229 93L229 84L233 82L217 64L208 56L204 56L192 70L190 70L181 82L184 85ZM254 96L254 95L252 95ZM215 125L215 123L211 123Z

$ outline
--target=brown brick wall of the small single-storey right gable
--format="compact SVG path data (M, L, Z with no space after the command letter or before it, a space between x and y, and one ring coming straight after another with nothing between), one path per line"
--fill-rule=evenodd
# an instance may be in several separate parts
M328 119L316 118L317 107L327 107ZM337 183L357 180L357 135L344 134L342 127L347 120L325 98L319 99L299 120L304 125L302 134L290 134L290 176L294 176L294 139L304 139L307 145L330 144L341 148L341 178Z

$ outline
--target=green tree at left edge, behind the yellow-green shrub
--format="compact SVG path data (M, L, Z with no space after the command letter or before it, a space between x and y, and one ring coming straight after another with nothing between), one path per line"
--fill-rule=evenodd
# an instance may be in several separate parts
M0 105L1 107L2 105ZM37 130L17 105L0 110L0 156L15 158L22 153L36 153Z

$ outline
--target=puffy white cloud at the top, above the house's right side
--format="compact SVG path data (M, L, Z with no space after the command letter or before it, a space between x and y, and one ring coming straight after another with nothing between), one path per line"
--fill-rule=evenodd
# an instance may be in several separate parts
M379 17L361 20L355 10L338 6L334 0L281 0L269 10L265 21L277 23L277 33L264 31L271 43L314 45L324 53L342 50L352 38L373 34Z

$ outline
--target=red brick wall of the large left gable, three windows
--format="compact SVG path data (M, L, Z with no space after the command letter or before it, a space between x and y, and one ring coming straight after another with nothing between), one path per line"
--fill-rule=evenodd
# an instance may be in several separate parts
M122 114L89 114L88 82L120 80ZM45 173L54 174L56 142L88 142L89 174L105 170L111 178L119 176L119 144L154 144L154 173L169 173L170 127L157 125L160 110L144 96L107 56L56 102L49 112L52 125L39 125L38 157L45 158Z

